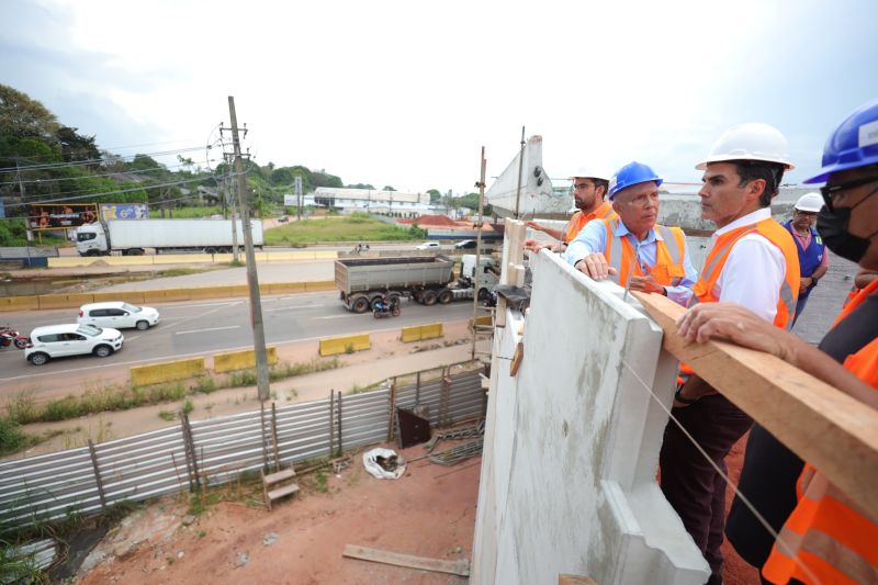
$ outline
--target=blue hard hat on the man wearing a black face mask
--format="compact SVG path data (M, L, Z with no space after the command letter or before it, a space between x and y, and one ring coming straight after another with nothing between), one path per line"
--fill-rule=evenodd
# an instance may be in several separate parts
M878 99L848 115L823 147L823 168L806 183L822 183L833 172L878 165Z

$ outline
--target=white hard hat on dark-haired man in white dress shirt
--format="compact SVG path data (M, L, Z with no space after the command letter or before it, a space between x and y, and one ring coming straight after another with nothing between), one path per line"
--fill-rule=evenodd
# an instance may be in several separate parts
M757 122L727 130L713 144L707 160L695 168L705 170L710 162L725 160L763 160L784 165L787 170L796 168L789 160L789 143L780 131Z

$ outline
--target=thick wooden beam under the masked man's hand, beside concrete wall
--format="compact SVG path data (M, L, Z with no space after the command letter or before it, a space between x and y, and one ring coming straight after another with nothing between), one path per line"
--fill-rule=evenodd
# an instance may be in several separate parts
M664 329L664 348L878 518L878 410L785 361L677 334L686 311L660 294L632 293Z

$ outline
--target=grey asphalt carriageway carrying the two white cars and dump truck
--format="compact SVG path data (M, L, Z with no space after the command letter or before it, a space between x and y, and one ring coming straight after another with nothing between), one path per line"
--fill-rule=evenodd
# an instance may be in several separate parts
M133 365L185 356L202 356L252 347L249 303L244 299L156 305L161 323L147 331L124 329L122 351L105 359L81 356L52 360L42 367L27 363L18 349L0 350L0 385L3 381L56 376L72 371ZM23 333L41 325L75 323L77 310L34 311L5 314L3 320ZM348 312L337 293L309 293L262 299L266 341L285 344L378 330L398 330L404 326L460 320L472 316L472 303L423 306L403 303L399 317L375 319L371 314ZM2 391L0 390L0 394Z

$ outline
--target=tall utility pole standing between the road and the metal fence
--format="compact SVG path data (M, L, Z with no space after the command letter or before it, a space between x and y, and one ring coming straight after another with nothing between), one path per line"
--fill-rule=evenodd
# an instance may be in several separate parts
M254 329L254 350L256 352L256 383L259 400L270 397L268 380L268 352L266 351L266 329L262 324L262 301L259 296L259 278L256 274L256 254L254 234L250 230L250 212L247 207L247 180L244 177L244 162L238 140L238 119L235 115L235 98L228 97L228 115L232 119L232 144L235 148L235 173L238 179L241 224L244 225L244 252L247 257L247 285L250 289L250 325ZM245 131L246 132L246 131Z

